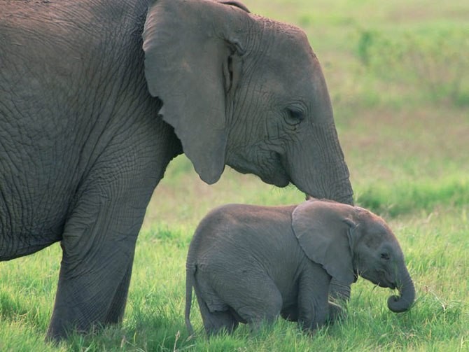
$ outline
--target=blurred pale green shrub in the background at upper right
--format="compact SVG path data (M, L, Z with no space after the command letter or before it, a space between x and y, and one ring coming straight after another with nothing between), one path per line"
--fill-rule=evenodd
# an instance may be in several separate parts
M368 73L411 85L431 101L469 106L469 31L360 30L356 55Z

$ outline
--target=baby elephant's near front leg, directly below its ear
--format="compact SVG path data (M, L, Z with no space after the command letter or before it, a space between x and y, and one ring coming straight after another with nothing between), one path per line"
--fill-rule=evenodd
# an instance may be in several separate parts
M327 323L332 304L328 301L329 283L330 276L316 263L311 263L302 273L298 285L298 323L302 329L316 330ZM337 313L337 308L333 307L332 315Z

